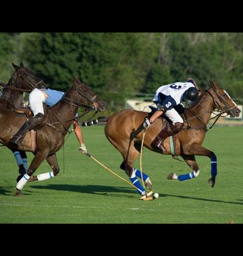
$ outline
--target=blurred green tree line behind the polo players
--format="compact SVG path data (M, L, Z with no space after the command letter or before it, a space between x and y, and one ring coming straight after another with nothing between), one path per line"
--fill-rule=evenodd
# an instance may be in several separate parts
M2 32L0 80L20 61L56 90L66 91L78 75L111 112L188 77L203 90L216 80L242 103L242 42L236 32Z

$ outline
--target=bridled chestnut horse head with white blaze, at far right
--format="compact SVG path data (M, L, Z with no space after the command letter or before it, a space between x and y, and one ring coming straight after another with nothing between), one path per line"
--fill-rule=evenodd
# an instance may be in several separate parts
M223 89L223 87L217 86L216 82L211 82L211 87L208 90L209 94L213 97L215 107L221 109L221 111L227 113L231 118L240 116L240 109L237 107L234 100Z

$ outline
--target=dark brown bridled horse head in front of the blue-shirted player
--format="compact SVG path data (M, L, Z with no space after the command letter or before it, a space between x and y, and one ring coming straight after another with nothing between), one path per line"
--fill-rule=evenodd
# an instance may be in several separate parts
M76 91L80 95L77 102L79 105L84 105L86 107L92 107L98 109L99 111L105 110L105 101L101 101L99 97L83 82L80 82L78 76L72 81Z

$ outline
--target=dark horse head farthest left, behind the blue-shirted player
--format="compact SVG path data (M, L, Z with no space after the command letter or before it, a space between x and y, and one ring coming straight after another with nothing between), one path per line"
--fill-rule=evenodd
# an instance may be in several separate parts
M47 84L33 74L28 68L24 67L24 64L20 62L20 66L12 63L15 69L14 74L9 80L9 84L15 86L16 88L22 88L29 91L34 90L34 88L46 88Z

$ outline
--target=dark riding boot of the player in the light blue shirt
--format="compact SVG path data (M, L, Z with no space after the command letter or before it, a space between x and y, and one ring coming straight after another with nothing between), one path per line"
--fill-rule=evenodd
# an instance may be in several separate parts
M11 138L11 140L9 140L9 142L14 143L20 147L22 140L26 136L26 133L30 130L33 130L37 126L40 126L41 124L43 124L43 120L44 120L43 113L38 113L36 116L33 116L32 118L30 118L28 122L22 125L20 130L18 130L18 132L14 134L14 136Z

